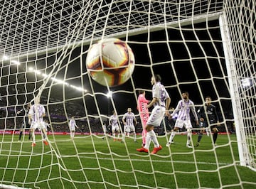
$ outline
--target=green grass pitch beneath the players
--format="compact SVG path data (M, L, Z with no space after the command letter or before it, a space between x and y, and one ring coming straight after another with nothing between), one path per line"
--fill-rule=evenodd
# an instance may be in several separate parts
M138 136L140 137L140 136ZM50 145L17 142L0 136L3 185L23 188L256 188L256 173L239 165L235 135L219 135L218 146L203 136L198 148L186 148L186 135L158 136L163 149L139 153L142 139L124 143L102 136L48 136ZM41 136L36 136L41 139ZM196 144L197 135L193 135ZM153 144L151 143L150 150Z

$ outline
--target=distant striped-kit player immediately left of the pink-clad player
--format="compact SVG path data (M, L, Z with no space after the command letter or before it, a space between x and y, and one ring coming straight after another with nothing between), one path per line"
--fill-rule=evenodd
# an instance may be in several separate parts
M137 119L130 107L127 109L127 112L124 114L122 121L124 123L124 134L122 136L122 141L124 141L126 134L127 136L129 136L129 134L133 132L134 142L136 142L136 131L134 127L134 121L135 121L135 125L137 125Z

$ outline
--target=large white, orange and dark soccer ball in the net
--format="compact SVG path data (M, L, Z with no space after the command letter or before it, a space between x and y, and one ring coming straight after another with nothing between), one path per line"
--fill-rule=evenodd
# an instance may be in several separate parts
M109 87L122 85L132 76L134 65L132 49L117 38L98 41L87 53L87 72L100 85Z

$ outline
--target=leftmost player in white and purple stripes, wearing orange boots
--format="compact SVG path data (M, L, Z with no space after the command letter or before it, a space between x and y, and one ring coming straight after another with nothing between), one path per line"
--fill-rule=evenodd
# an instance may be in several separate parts
M41 135L43 138L43 143L48 145L46 130L44 129L44 121L43 117L46 116L46 109L40 104L40 98L36 97L34 100L34 104L31 106L28 112L28 124L31 125L31 137L32 137L32 145L36 146L36 136L35 130L38 129L41 131Z

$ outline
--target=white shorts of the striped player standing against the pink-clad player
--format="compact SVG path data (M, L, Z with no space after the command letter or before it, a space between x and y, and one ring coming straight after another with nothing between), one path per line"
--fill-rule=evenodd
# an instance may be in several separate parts
M147 125L160 126L161 121L164 119L164 114L166 112L165 107L155 106L152 110Z

